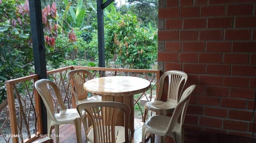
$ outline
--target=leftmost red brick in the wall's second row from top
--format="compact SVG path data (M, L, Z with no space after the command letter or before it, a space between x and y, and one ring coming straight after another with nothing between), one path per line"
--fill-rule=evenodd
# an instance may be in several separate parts
M179 18L179 16L180 16L180 12L177 7L158 10L158 19Z

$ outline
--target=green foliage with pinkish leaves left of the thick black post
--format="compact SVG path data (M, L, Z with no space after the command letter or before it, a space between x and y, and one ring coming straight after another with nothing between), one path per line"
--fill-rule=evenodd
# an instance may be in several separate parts
M33 66L28 3L3 0L0 4L0 103L5 81L28 75Z

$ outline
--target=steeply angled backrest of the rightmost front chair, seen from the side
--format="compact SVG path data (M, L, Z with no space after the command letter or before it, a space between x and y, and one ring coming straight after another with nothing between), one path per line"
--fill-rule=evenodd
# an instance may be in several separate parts
M185 91L183 91L180 101L173 111L173 114L168 124L166 132L172 132L174 127L177 126L177 124L179 124L180 129L182 128L185 115L187 112L190 94L194 91L195 88L196 88L196 85L191 85Z

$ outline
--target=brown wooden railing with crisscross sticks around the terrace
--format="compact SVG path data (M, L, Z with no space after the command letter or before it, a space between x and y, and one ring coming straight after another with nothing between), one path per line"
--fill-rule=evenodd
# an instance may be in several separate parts
M140 106L140 99L151 100L156 95L157 83L160 76L159 70L137 70L137 69L115 69L115 68L95 68L86 66L68 66L65 68L47 72L47 78L54 81L62 94L65 104L72 108L75 105L70 94L70 85L66 78L67 72L74 69L86 69L93 73L94 78L103 76L127 75L141 77L150 81L151 87L148 91L134 96L134 105L143 118L143 107ZM34 89L34 83L38 80L38 75L33 74L27 77L6 81L7 101L1 104L0 113L7 116L4 123L10 120L10 133L0 128L0 142L31 142L40 137L42 133L41 109L38 93ZM8 104L7 104L8 102ZM6 110L4 110L6 109ZM9 116L8 116L9 115ZM0 122L1 123L1 122ZM45 126L45 125L44 125ZM2 136L2 137L1 137Z

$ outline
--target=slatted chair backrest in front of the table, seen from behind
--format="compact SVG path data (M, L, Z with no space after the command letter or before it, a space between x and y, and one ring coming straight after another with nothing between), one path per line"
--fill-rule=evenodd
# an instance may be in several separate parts
M86 102L77 105L77 111L83 122L86 122L84 111L92 121L94 143L116 142L115 122L117 114L122 111L125 115L125 142L129 142L130 133L128 129L131 109L128 105L119 102Z

